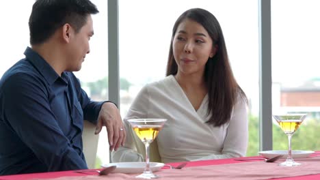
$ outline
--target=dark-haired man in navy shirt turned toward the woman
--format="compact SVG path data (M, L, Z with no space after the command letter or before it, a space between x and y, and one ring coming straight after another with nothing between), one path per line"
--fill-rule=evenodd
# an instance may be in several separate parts
M93 102L72 72L94 35L89 0L38 0L29 18L31 48L0 80L0 175L88 168L83 119L107 127L110 149L125 132L112 102Z

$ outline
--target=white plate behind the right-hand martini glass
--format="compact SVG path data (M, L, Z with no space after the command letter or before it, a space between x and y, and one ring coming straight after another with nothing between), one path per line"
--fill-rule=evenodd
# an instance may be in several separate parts
M302 157L309 157L315 151L299 151L299 150L292 150L292 158L302 158ZM260 155L263 157L271 158L276 155L283 155L282 158L286 158L288 156L288 150L274 150L274 151L260 151Z

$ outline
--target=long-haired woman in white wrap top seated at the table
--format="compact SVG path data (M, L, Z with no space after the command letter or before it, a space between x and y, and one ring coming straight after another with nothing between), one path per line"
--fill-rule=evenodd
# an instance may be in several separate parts
M232 74L217 19L206 10L187 10L174 24L167 77L146 85L137 95L124 118L126 143L113 152L113 160L143 161L126 121L136 118L168 119L157 137L162 162L244 156L246 102Z

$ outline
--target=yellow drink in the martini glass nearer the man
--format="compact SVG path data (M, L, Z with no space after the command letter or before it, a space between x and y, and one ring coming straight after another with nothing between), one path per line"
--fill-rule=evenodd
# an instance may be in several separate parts
M137 125L133 127L133 130L142 142L152 142L158 136L161 128L161 125Z

